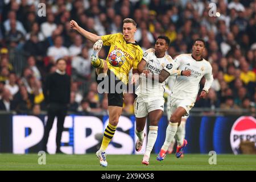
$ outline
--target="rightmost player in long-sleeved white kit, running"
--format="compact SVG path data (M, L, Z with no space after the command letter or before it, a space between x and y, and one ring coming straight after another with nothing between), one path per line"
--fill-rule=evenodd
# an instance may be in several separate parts
M159 161L165 158L168 146L177 133L178 126L181 122L181 117L188 115L189 110L191 110L191 108L194 106L197 94L199 92L199 83L201 78L204 76L206 81L204 88L200 93L200 98L205 98L207 96L208 90L212 85L212 66L207 60L202 58L204 49L204 40L196 39L193 43L192 54L181 54L174 59L174 66L172 69L191 71L191 76L176 77L171 94L170 123L166 129L166 139L157 157L157 160ZM164 77L164 75L160 74L159 78L160 77ZM183 154L184 147L187 145L187 140L185 140L181 134L176 135L176 140L176 157L180 158L180 156Z

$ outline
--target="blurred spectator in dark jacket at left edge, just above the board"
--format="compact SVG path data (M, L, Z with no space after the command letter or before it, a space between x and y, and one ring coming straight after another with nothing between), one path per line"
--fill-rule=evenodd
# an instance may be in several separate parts
M0 100L0 110L14 110L14 103L11 100L11 93L7 88L3 89L2 99Z

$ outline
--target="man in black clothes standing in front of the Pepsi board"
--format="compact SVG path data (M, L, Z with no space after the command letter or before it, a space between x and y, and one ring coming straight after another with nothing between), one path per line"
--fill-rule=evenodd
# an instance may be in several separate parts
M47 152L47 142L55 116L57 117L56 153L60 151L60 140L65 116L67 115L71 93L71 78L65 72L67 63L64 59L56 61L56 72L46 78L44 98L47 102L48 119L44 130L43 150Z

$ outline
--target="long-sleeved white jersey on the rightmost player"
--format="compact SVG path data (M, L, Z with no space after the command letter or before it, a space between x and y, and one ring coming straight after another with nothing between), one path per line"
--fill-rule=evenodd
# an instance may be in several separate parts
M170 72L170 69L164 68ZM191 71L191 76L176 76L174 85L171 86L171 96L178 99L191 98L196 101L197 94L199 92L199 83L204 76L206 81L204 90L208 92L213 82L212 66L210 63L202 59L196 61L193 59L192 54L181 54L174 59L174 65L172 69L180 69Z

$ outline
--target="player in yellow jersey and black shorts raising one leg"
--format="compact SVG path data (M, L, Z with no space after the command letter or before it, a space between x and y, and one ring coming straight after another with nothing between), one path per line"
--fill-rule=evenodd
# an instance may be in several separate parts
M93 67L96 68L96 78L100 73L108 74L109 124L105 129L101 148L96 152L97 158L100 159L101 166L107 167L108 162L106 162L105 150L108 147L110 140L114 136L119 117L122 113L122 91L128 82L128 74L130 69L133 68L133 73L137 73L137 65L142 59L143 51L141 47L138 46L138 43L134 40L137 24L133 19L126 18L123 20L123 34L118 33L104 36L98 36L84 30L74 20L71 20L69 24L73 30L78 31L80 34L84 35L86 39L94 42L91 62ZM114 49L121 50L126 57L125 63L123 63L121 67L113 67L110 65L109 61L99 59L98 52L100 52L102 44L103 46L110 46L109 54ZM114 80L112 78L114 78ZM98 80L99 79L97 78L97 81ZM119 85L122 86L120 87ZM121 88L121 92L119 92L119 90L116 88Z

